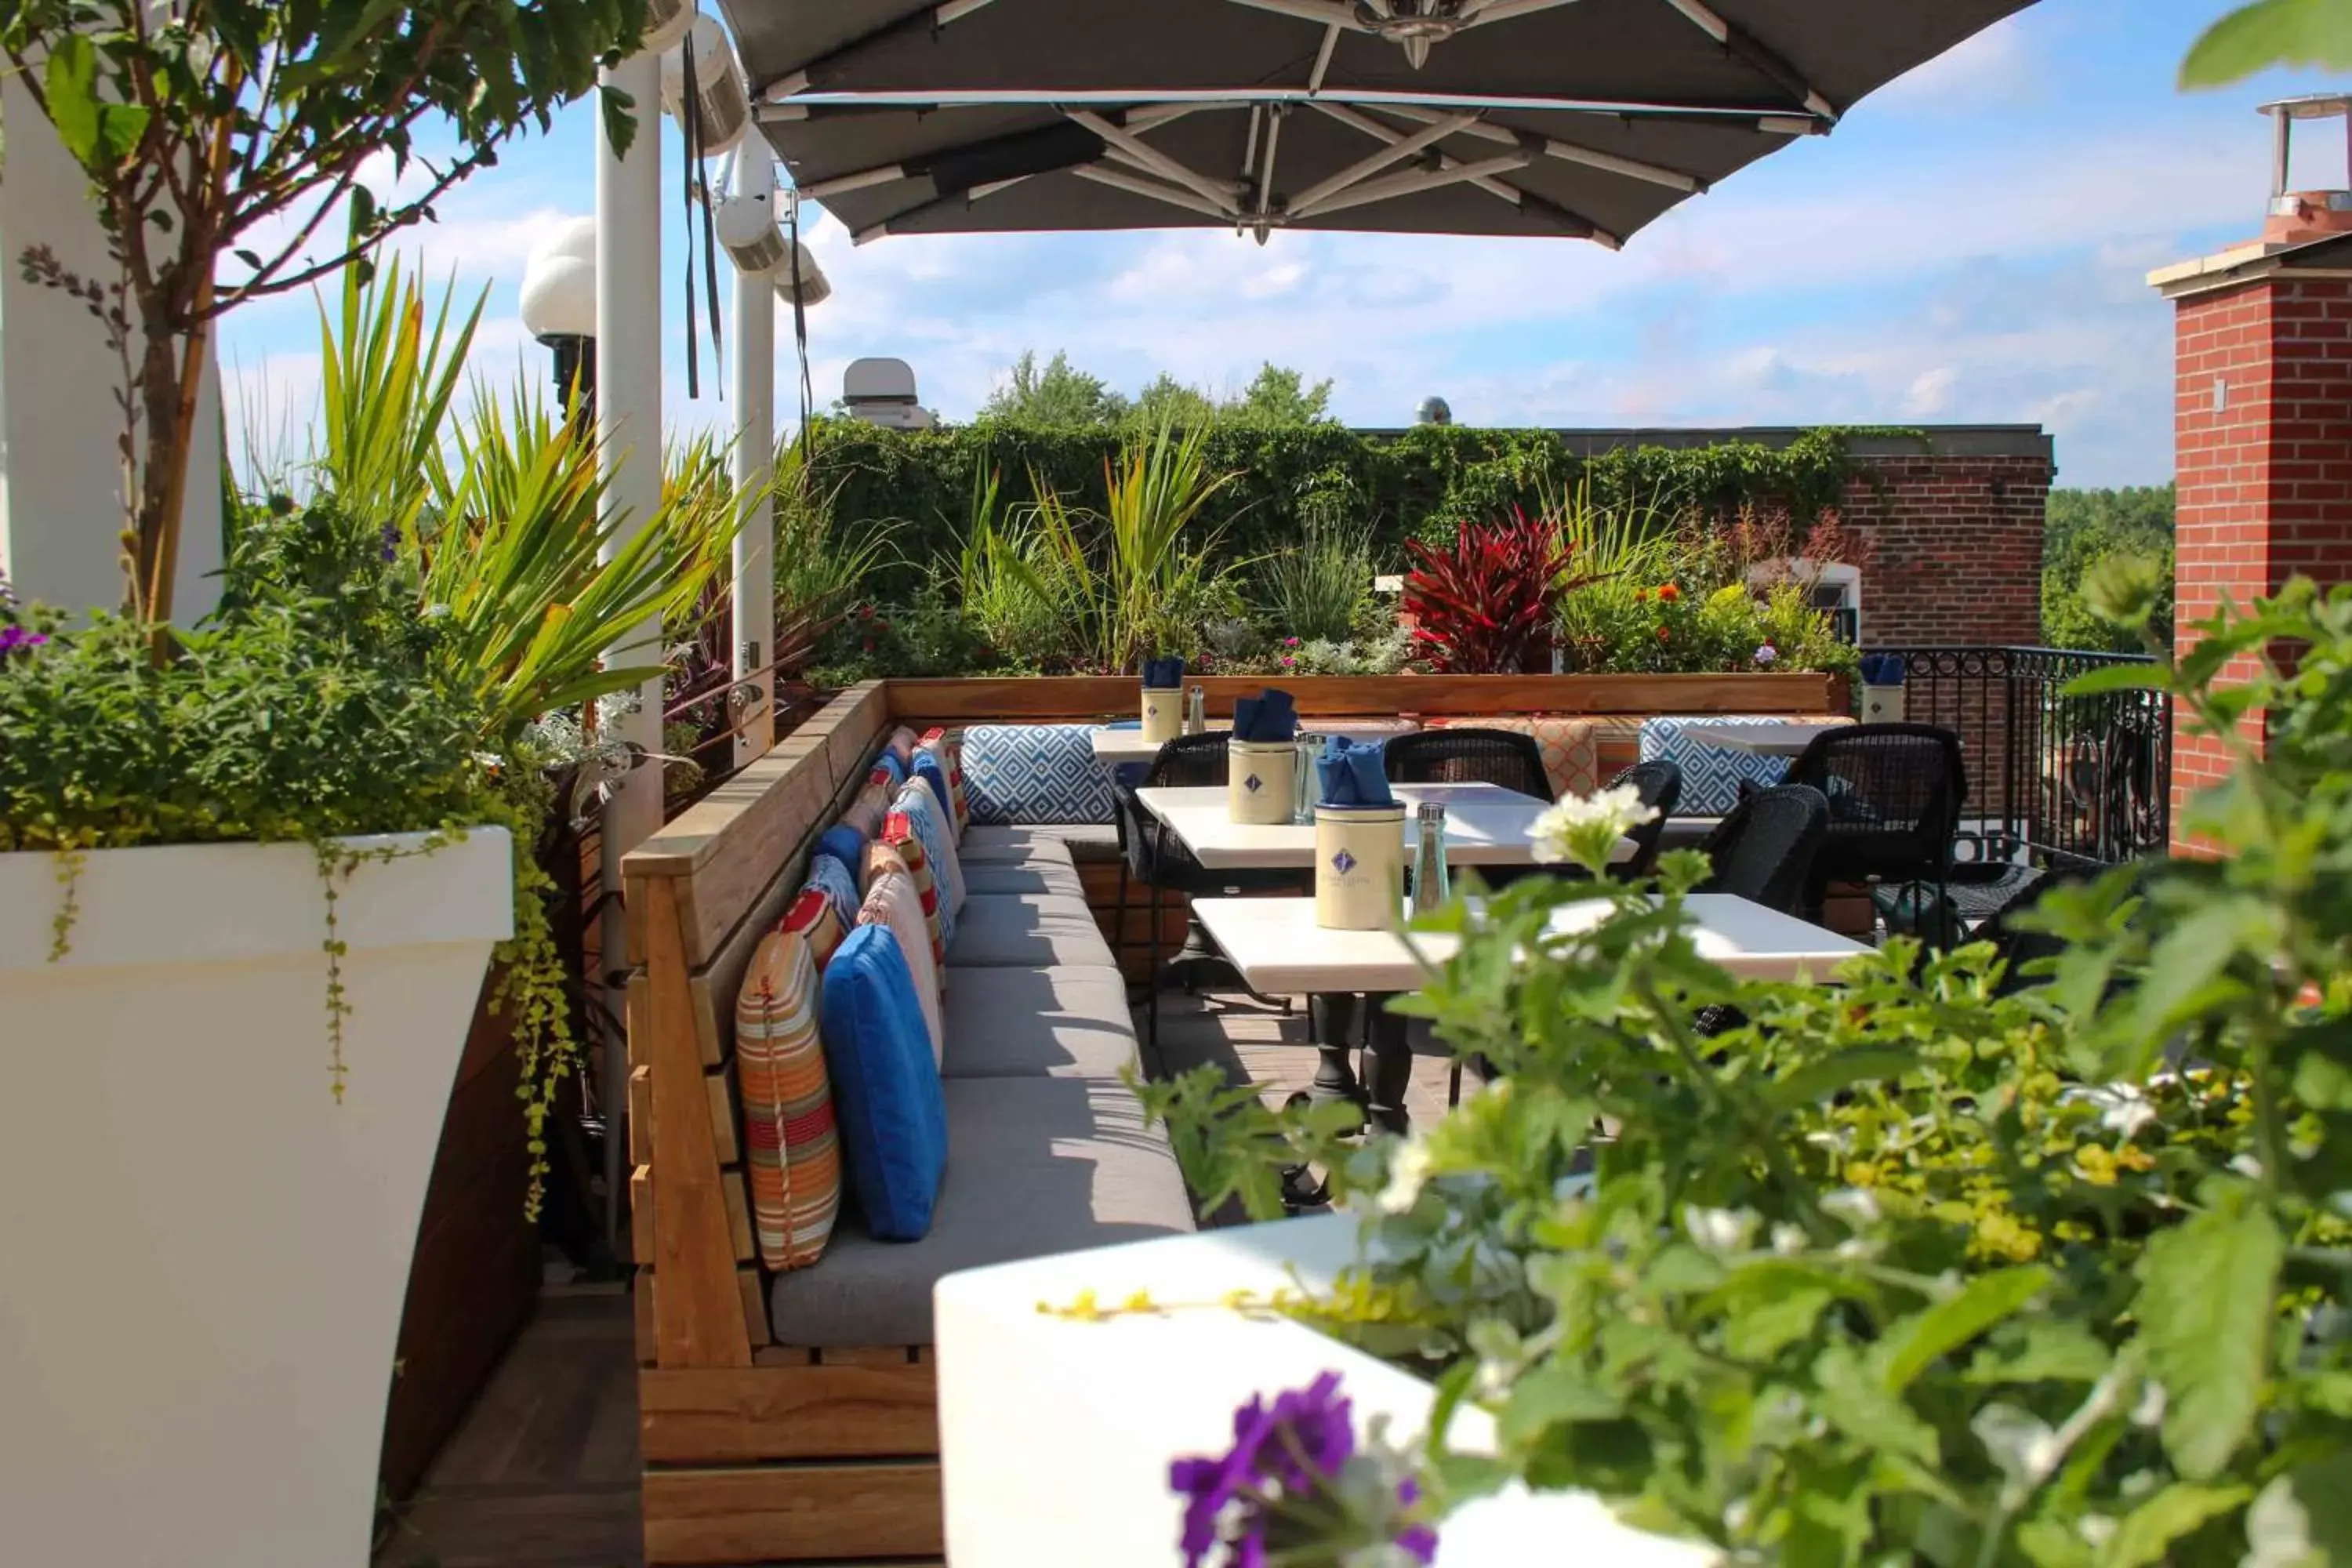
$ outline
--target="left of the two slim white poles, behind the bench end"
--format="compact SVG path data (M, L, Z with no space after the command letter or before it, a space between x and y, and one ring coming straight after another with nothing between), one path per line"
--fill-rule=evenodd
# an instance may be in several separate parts
M644 52L609 66L604 82L626 92L637 106L637 136L621 158L604 136L597 115L595 134L595 397L597 440L602 442L600 480L604 505L621 512L612 545L647 527L661 510L661 61ZM604 654L619 663L659 663L661 618L640 621ZM637 689L637 712L607 731L614 741L633 741L647 752L661 752L661 679ZM626 1009L614 985L626 990L628 917L621 910L621 856L661 827L661 762L633 769L604 802L604 905L602 969L607 976L607 1013ZM619 1253L621 1215L621 1107L628 1103L628 1056L619 1030L604 1046L604 1241Z

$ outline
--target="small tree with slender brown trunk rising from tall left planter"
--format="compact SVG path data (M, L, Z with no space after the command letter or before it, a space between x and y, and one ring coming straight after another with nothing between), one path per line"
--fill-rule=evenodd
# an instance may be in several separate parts
M362 261L421 219L522 127L595 87L635 49L644 0L7 0L0 52L89 176L120 268L75 277L26 247L26 277L71 289L125 357L132 468L129 609L172 616L188 447L212 324ZM604 96L616 146L635 129ZM447 122L459 150L416 150ZM423 188L362 181L386 153ZM346 209L346 230L329 219ZM320 233L332 237L320 249ZM226 275L223 275L226 273ZM141 456L143 444L143 456Z

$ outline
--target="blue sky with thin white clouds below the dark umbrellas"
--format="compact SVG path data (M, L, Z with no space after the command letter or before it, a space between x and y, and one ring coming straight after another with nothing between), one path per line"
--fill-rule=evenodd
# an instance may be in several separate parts
M1933 0L1926 0L1933 2ZM1444 395L1494 425L2042 423L2060 484L2171 477L2171 306L2150 268L2260 228L2263 99L2338 87L2272 75L2183 96L2173 68L2225 0L2042 0L1635 235L1571 240L1228 233L915 237L811 233L835 294L809 315L818 400L858 355L915 367L969 416L1023 348L1124 390L1209 388L1261 360L1329 376L1334 411L1395 425ZM402 240L489 289L475 369L541 376L515 320L532 247L593 207L593 122L569 110ZM2310 136L2298 183L2340 186ZM675 143L663 160L673 425L684 397ZM261 447L301 449L318 383L306 299L230 320L223 369ZM529 357L524 360L524 350ZM786 353L790 348L786 346ZM708 371L708 360L706 360ZM779 362L779 404L790 404Z

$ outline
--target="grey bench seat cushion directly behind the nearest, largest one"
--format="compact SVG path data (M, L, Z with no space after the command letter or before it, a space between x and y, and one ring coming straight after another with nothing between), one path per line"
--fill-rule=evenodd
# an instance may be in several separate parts
M1117 969L957 969L941 1023L950 1079L1115 1079L1136 1065Z

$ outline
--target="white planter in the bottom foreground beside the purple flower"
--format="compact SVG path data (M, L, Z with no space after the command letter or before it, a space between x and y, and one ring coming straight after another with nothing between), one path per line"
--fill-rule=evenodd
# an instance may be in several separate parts
M1282 1319L1216 1307L1331 1279L1355 1253L1345 1215L1136 1241L969 1269L938 1281L938 1443L955 1568L1176 1563L1183 1507L1169 1462L1232 1446L1251 1394L1334 1371L1357 1429L1428 1429L1430 1385ZM1148 1291L1169 1312L1098 1324L1037 1312L1094 1291L1115 1305ZM1181 1307L1178 1307L1181 1305ZM1456 1448L1491 1446L1484 1410L1454 1418ZM1583 1493L1508 1490L1439 1528L1442 1568L1606 1563L1705 1568L1710 1554L1618 1523Z

